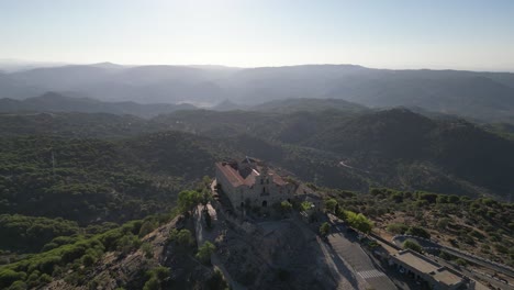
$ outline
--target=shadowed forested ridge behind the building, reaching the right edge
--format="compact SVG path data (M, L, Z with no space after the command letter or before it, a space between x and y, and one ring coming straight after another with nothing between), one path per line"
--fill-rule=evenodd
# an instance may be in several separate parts
M514 186L507 177L514 167L511 140L463 120L429 119L406 109L361 113L198 111L154 121L225 141L249 135L258 140L254 147L261 143L288 152L309 148L323 153L317 156L324 159L315 154L302 156L317 160L313 161L320 165L317 177L331 186L340 172L358 176L368 185L469 196L507 198ZM248 150L252 144L242 148ZM255 155L265 158L270 152ZM331 174L320 174L321 168Z

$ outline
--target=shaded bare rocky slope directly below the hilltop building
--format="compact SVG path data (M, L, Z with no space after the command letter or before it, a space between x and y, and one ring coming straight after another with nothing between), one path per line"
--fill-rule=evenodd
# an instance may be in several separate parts
M300 225L301 226L301 225ZM248 289L335 289L313 233L292 221L262 223L247 234L228 228L217 255L234 280Z

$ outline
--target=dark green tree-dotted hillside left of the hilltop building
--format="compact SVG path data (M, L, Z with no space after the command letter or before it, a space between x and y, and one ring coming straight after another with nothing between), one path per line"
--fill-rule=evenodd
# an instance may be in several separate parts
M79 224L139 219L172 207L176 193L212 175L222 156L201 137L178 132L115 142L2 138L0 211Z

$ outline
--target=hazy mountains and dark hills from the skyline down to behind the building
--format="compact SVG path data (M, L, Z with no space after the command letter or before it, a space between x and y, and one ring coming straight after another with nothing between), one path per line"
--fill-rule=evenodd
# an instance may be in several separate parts
M102 63L2 74L0 97L3 136L172 130L329 187L507 199L513 186L514 74Z

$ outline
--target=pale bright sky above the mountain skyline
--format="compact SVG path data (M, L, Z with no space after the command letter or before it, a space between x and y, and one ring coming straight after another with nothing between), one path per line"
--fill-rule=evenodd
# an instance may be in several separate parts
M514 70L514 0L0 0L0 58Z

